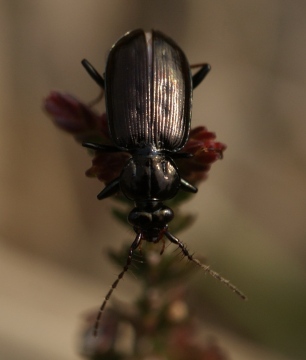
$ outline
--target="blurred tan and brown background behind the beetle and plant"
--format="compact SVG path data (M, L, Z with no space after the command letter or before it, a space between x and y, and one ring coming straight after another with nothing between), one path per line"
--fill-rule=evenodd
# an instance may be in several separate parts
M134 239L113 201L96 200L90 157L42 102L55 89L92 100L80 61L103 73L135 28L212 65L192 126L228 149L181 209L197 218L179 237L249 300L199 272L203 332L232 359L306 358L305 20L303 0L0 1L1 359L79 359L82 317L117 274L105 251ZM126 278L115 296L137 289Z

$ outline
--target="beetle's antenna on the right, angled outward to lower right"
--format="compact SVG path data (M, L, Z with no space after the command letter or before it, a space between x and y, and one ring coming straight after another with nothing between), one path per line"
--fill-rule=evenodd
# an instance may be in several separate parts
M194 258L193 255L189 253L186 245L184 245L178 238L174 235L170 234L168 231L165 232L166 237L175 245L177 245L183 252L184 256L188 258L188 260L194 262L196 265L201 267L205 272L214 277L215 279L221 281L224 285L230 288L235 294L237 294L241 299L247 300L247 297L244 295L242 291L240 291L235 285L233 285L229 280L222 277L219 273L212 270L209 265L202 264L201 261Z

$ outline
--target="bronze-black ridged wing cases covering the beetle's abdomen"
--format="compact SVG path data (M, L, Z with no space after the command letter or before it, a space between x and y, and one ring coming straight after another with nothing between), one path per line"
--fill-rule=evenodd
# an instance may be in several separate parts
M192 78L176 43L134 30L112 47L105 71L110 133L121 149L177 151L189 135Z

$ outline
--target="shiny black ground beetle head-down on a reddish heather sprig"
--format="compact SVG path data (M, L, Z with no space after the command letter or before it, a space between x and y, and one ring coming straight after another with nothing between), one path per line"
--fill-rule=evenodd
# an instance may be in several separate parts
M164 201L184 190L196 193L197 188L181 178L175 159L191 155L180 152L188 140L191 122L193 89L210 70L201 64L192 76L190 65L180 47L163 33L141 29L126 33L111 48L104 78L86 60L83 66L95 82L105 90L109 131L114 146L83 143L83 146L104 152L128 152L130 158L121 175L99 194L102 200L119 191L132 200L135 207L128 222L136 233L126 265L107 293L97 316L97 334L101 314L118 282L131 265L133 253L141 242L163 241L177 245L184 256L226 284L240 297L245 296L228 280L195 259L187 247L168 230L174 217Z

